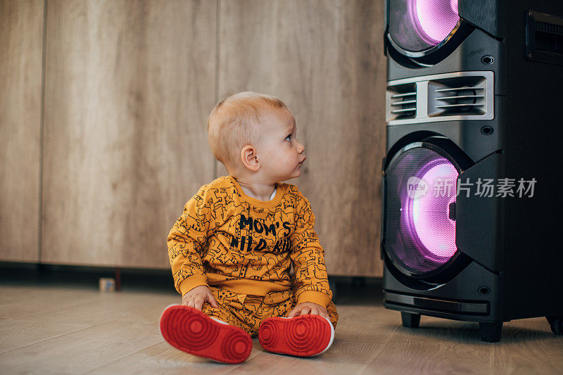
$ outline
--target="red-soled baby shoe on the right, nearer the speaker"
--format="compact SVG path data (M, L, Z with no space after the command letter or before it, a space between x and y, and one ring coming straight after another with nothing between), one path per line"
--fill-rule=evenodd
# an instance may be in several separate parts
M269 352L310 357L330 348L334 327L319 315L268 318L260 324L258 341Z

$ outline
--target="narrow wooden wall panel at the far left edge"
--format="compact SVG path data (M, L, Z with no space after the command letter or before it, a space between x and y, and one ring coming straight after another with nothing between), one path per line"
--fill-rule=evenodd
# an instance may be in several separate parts
M43 0L0 0L0 260L39 257Z

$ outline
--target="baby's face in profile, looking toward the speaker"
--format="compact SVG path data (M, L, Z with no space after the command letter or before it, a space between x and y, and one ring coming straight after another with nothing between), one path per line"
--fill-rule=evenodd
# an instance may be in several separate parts
M267 182L280 182L301 175L305 146L296 139L296 124L289 110L267 110L261 116L263 134L256 145L260 171Z

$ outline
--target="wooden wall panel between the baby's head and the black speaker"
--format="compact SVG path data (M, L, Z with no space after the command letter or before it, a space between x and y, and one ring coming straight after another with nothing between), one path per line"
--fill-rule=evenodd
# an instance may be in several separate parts
M220 97L259 91L292 110L308 161L291 183L315 211L329 274L382 274L383 32L381 1L220 3Z

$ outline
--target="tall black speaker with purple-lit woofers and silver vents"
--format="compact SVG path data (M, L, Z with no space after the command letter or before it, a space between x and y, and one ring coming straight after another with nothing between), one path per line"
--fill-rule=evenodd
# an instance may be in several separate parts
M388 0L384 45L384 305L562 334L563 1Z

